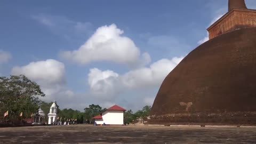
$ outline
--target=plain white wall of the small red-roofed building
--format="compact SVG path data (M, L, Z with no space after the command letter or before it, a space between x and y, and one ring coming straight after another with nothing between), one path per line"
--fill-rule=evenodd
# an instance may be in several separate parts
M106 110L102 113L103 123L105 124L124 124L124 111ZM102 124L103 124L102 123Z

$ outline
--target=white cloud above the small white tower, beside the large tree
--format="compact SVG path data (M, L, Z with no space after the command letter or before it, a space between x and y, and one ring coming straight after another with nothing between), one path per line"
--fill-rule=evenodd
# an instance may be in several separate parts
M41 86L46 101L61 101L61 98L69 99L74 93L66 89L65 66L63 63L48 59L45 61L30 62L26 66L15 66L12 75L25 75Z

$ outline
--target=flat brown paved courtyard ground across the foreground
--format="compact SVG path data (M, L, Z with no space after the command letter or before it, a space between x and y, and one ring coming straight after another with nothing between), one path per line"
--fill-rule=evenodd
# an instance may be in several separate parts
M0 128L0 143L256 143L256 127L57 125Z

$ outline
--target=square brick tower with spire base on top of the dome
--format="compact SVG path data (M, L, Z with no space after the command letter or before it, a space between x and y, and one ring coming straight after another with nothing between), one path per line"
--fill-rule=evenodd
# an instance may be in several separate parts
M256 10L247 9L244 0L229 0L228 12L214 22L207 31L209 39L237 29L256 26Z

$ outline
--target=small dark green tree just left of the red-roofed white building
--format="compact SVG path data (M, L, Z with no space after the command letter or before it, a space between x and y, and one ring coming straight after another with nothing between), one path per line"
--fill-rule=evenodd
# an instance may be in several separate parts
M102 111L102 108L99 105L90 105L87 108L84 108L84 115L85 115L85 119L87 119L87 121L89 121L89 123L92 123L92 118L94 116L97 116L100 114L100 112Z

